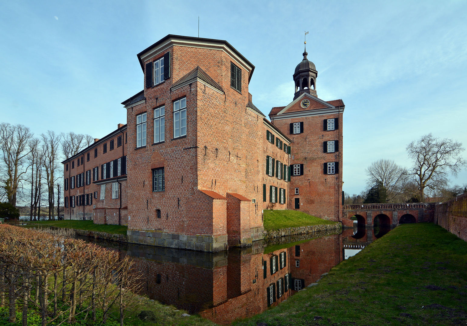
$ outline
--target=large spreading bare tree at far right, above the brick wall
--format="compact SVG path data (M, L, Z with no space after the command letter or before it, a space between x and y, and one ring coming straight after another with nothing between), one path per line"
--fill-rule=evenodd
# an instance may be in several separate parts
M448 173L454 176L466 165L461 157L462 143L453 139L439 139L431 133L412 141L406 148L413 167L412 175L418 186L418 198L425 202L425 188L442 189L447 186Z

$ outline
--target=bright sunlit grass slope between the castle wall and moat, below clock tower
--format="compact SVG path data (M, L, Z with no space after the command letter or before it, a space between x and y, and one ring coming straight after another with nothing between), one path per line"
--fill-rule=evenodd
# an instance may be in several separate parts
M300 226L318 224L336 224L322 218L305 214L297 210L270 210L263 211L263 223L266 230L277 230L284 228L297 228Z

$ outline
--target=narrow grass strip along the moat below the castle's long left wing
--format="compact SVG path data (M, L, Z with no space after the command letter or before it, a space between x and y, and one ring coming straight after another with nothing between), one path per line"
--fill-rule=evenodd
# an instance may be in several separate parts
M47 228L50 226L55 226L58 228L99 231L99 232L107 232L107 233L113 233L113 234L127 234L126 225L94 224L92 221L79 221L79 220L38 221L38 222L28 221L27 223L28 225L24 225L24 227L26 228L34 228L37 226Z

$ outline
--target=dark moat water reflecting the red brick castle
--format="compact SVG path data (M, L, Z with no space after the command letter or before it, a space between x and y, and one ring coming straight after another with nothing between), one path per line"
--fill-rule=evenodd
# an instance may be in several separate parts
M380 236L382 229L375 230L283 237L220 253L94 242L134 259L146 276L144 294L149 298L226 325L316 282Z

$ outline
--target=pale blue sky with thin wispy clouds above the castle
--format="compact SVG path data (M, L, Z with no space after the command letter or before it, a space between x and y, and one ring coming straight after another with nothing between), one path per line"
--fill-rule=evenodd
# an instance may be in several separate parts
M168 34L226 40L255 71L266 116L293 99L303 59L342 99L343 189L378 159L410 166L429 132L467 146L467 1L0 1L0 121L101 138L143 89L136 55ZM464 152L467 159L467 152ZM453 184L467 183L463 170Z

